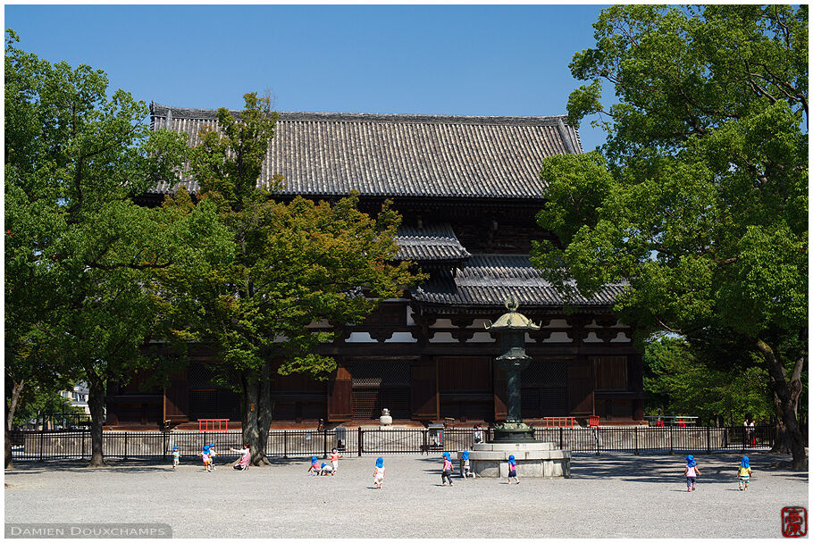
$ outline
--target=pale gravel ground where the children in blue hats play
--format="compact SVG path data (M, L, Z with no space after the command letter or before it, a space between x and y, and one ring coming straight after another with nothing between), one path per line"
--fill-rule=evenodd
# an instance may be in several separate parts
M455 479L440 458L347 456L335 477L306 474L308 459L206 473L192 458L175 472L130 461L19 463L6 470L6 522L166 522L180 538L780 538L784 506L808 506L807 472L786 456L752 453L750 489L737 490L740 456L695 455L702 477L686 492L683 455L575 455L570 479ZM456 468L457 469L457 468ZM456 473L457 475L457 473Z

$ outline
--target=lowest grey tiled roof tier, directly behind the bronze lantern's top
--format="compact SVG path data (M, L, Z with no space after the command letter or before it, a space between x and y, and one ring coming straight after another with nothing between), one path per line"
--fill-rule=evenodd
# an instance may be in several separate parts
M607 285L594 297L576 297L574 305L613 305L624 285ZM441 273L419 287L412 297L430 305L501 306L513 295L522 307L561 307L563 298L541 278L528 255L472 255L465 268Z

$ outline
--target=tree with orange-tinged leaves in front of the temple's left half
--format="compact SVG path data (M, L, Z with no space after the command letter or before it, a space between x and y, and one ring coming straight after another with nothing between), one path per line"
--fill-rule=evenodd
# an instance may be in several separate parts
M332 336L308 325L360 322L377 298L417 278L407 263L392 263L399 217L387 205L372 218L356 209L356 196L335 205L302 197L282 203L272 197L280 178L257 187L276 115L268 98L245 100L239 118L218 110L216 129L202 131L191 158L200 200L216 207L230 249L201 272L176 268L163 282L173 285L172 305L189 308L183 333L214 347L222 379L237 381L243 439L259 465L268 462L272 363L281 362L283 374L326 379L336 364L314 348ZM189 195L180 191L164 207L189 210Z

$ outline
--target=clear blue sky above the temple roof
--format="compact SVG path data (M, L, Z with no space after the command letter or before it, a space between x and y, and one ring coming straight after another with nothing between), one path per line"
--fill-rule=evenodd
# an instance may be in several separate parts
M18 46L180 107L554 115L600 5L6 5ZM603 132L580 129L583 147Z

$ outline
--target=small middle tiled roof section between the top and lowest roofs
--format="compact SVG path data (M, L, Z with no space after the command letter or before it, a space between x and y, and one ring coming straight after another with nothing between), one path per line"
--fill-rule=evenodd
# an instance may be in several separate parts
M463 261L469 256L448 223L398 227L396 242L400 260L415 262Z

